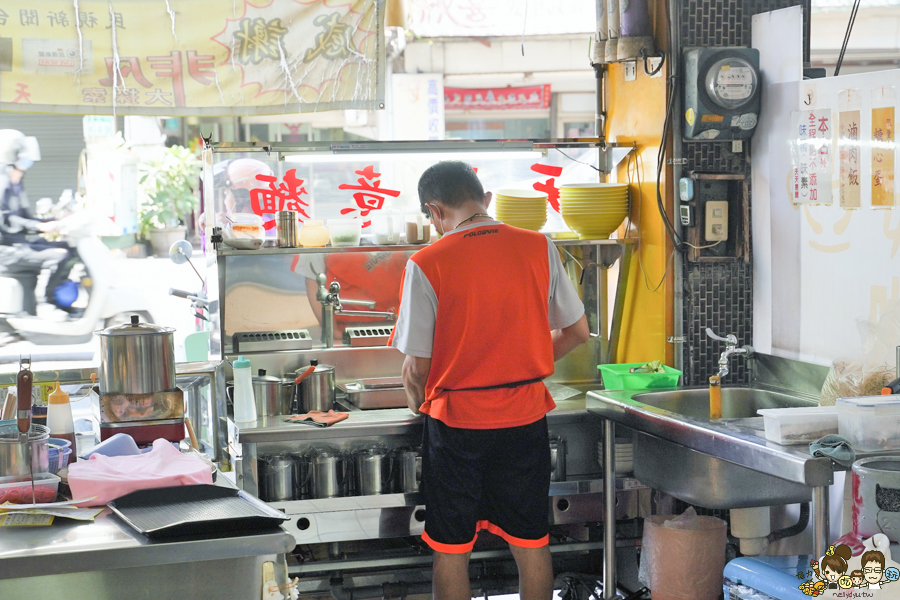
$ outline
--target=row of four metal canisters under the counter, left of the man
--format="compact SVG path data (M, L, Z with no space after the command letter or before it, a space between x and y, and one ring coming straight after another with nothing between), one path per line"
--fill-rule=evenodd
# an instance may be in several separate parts
M259 495L267 502L419 491L422 455L415 448L317 448L260 458Z

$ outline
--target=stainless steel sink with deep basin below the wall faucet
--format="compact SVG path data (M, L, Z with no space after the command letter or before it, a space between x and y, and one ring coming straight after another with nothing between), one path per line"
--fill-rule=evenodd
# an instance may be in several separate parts
M722 419L709 418L709 390L599 391L588 411L635 430L634 475L642 483L707 508L807 502L810 486L833 476L806 446L765 439L760 408L813 402L750 388L722 389Z

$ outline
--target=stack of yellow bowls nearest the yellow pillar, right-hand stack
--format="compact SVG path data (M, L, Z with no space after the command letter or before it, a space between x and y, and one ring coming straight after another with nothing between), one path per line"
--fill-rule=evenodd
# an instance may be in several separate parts
M573 183L559 188L560 212L581 239L606 239L628 215L625 183Z

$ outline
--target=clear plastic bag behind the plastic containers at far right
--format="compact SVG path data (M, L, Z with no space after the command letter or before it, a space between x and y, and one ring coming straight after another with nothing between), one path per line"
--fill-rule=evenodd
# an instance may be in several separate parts
M820 406L834 406L838 398L878 396L881 388L896 378L896 347L900 341L900 301L892 302L878 323L857 319L863 353L854 360L832 363L822 392Z

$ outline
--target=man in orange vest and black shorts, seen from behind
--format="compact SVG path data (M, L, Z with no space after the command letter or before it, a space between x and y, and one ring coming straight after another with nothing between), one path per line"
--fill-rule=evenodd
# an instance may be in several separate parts
M549 600L550 449L543 380L588 339L584 306L553 242L487 214L469 165L441 162L419 202L442 238L407 263L392 345L410 409L425 414L422 539L434 597L469 600L477 532L509 543L523 600Z

